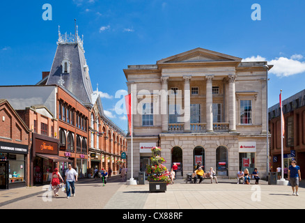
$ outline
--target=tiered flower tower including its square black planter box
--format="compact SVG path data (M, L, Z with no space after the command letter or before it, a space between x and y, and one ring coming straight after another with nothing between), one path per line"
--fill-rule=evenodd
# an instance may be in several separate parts
M164 157L161 157L161 148L155 146L151 149L152 157L150 157L150 165L146 167L148 174L149 191L150 192L166 192L166 185L171 180L167 174L164 174L166 167L162 164L166 162Z

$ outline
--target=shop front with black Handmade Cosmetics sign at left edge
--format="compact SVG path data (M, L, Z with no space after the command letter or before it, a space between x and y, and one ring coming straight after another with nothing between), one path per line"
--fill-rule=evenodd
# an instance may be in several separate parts
M0 141L0 189L26 186L29 146Z

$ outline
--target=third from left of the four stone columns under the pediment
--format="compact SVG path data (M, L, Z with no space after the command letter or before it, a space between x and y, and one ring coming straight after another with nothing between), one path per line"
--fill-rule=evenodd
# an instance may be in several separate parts
M207 132L213 131L213 95L212 95L212 79L214 75L207 75L205 79L207 80L206 87L206 116L207 116Z

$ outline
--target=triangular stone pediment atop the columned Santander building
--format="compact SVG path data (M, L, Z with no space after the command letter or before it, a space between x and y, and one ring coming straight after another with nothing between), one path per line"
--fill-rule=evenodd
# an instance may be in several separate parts
M157 61L157 64L161 63L198 63L198 62L240 62L241 58L236 56L230 56L227 54L221 54L219 52L214 52L208 49L196 48L191 49L187 52L181 54L176 54L174 56L169 56L166 59Z

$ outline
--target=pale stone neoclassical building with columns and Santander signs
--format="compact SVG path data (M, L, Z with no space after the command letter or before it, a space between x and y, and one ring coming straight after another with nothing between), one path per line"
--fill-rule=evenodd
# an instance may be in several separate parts
M168 169L178 163L178 176L201 161L204 171L213 167L218 176L235 178L238 169L256 167L265 178L272 68L266 65L196 48L124 69L133 100L134 177L150 162L150 148L160 146Z

